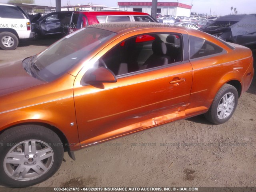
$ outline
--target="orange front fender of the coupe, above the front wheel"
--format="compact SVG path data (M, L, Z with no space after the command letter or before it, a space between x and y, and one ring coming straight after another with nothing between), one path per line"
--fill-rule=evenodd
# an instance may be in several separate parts
M0 131L19 124L48 124L66 136L71 150L80 149L73 83L74 76L65 74L55 82L2 96Z

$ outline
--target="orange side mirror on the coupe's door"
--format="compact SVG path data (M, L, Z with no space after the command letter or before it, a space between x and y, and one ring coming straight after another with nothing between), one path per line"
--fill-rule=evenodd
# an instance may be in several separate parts
M115 74L106 67L99 67L97 69L89 69L82 77L81 85L114 82L116 82Z

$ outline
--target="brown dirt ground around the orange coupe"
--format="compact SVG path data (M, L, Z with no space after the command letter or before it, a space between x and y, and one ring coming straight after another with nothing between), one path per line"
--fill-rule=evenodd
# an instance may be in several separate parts
M55 40L0 50L0 63L32 56ZM255 149L254 76L227 123L197 116L85 148L75 152L76 161L65 153L58 172L36 186L256 186Z

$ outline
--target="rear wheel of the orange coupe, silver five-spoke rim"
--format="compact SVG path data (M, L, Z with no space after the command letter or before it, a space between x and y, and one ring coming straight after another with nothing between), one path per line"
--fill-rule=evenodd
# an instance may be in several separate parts
M234 100L232 98L234 98ZM225 102L225 100L227 102ZM204 116L208 121L214 124L218 125L225 123L234 114L237 103L238 92L236 88L230 84L224 84L224 86L222 86L222 88L220 88L220 90L217 92L212 105L210 106L208 112L204 114Z

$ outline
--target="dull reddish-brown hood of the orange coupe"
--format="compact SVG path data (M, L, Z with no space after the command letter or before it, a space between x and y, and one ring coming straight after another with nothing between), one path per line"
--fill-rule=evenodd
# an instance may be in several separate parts
M30 76L22 67L22 60L0 64L0 96L44 84Z

